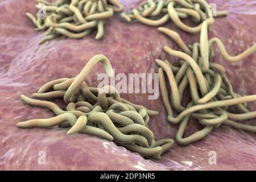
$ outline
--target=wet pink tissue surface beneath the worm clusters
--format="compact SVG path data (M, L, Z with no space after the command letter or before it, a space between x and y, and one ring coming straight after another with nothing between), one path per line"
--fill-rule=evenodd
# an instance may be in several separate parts
M125 10L142 1L123 0ZM256 2L211 0L217 10L229 15L216 18L209 38L218 37L230 55L237 55L256 42ZM36 14L35 1L0 1L0 169L1 170L237 170L256 169L256 135L221 126L199 142L180 147L177 144L156 162L143 159L114 142L86 134L68 136L67 129L19 129L19 121L53 117L48 109L24 104L20 94L31 96L44 83L61 77L77 75L96 54L109 58L116 73L156 73L156 58L168 58L163 46L178 49L155 27L141 23L123 23L115 15L106 23L105 35L95 40L96 31L84 39L57 38L39 46L44 32L34 30L25 13ZM187 34L167 23L165 27L179 32L187 44L199 42L199 34ZM240 94L256 94L256 53L238 63L222 60L216 52L214 61L224 65L234 90ZM100 65L86 78L97 86ZM151 117L150 129L156 139L174 138L177 126L167 121L162 98L148 100L147 94L122 94L122 97L149 109L159 111ZM64 109L64 103L58 101ZM250 110L256 110L254 103ZM190 122L187 133L200 129ZM255 125L255 119L249 121ZM38 163L39 152L46 152L46 164ZM217 154L217 164L209 164L209 152Z

